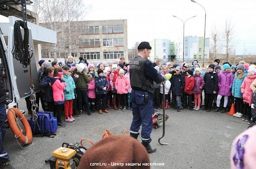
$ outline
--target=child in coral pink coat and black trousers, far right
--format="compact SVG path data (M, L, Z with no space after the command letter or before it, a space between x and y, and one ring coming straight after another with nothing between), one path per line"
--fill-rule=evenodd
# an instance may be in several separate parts
M241 93L243 94L244 101L244 114L242 120L250 121L251 115L251 103L252 103L252 93L250 88L252 82L256 79L256 69L250 68L247 70L247 76L241 85Z

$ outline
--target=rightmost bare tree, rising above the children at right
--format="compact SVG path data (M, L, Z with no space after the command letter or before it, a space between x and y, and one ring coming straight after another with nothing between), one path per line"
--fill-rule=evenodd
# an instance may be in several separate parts
M226 48L226 59L225 61L229 62L230 49L236 44L234 41L234 25L231 24L231 21L226 20L226 25L223 33L225 39L224 47Z

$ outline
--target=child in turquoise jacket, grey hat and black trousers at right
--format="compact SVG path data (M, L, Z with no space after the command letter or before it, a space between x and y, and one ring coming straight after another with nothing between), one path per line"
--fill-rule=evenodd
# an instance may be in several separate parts
M246 76L247 76L247 73L244 73L244 65L243 64L237 65L236 75L232 85L232 95L235 97L235 100L236 100L236 114L234 114L233 116L238 118L241 118L244 112L244 102L243 102L243 97L241 93L241 85Z

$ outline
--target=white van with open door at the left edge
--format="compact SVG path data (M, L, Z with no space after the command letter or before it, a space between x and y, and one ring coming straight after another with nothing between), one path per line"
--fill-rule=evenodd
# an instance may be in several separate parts
M29 34L31 35L30 29ZM20 64L20 61L16 60L12 56L12 48L14 44L13 35L13 27L10 27L8 36L8 46L6 46L6 42L3 37L3 32L0 29L0 69L3 72L3 81L7 93L7 109L9 109L10 107L18 108L17 101L25 97L28 97L31 94L29 66L27 68L23 68L23 65ZM29 47L31 47L34 50L32 36L29 36ZM35 92L38 92L40 89L38 84L35 56L31 58L31 68Z

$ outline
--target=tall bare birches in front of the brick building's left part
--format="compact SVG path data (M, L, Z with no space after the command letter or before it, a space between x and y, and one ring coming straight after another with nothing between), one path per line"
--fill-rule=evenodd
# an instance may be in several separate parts
M82 0L34 0L34 11L38 13L41 25L57 32L57 44L43 45L42 48L54 50L55 59L59 52L65 59L71 53L76 54L79 28L73 21L84 18L87 8L89 6L85 7Z

